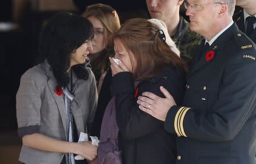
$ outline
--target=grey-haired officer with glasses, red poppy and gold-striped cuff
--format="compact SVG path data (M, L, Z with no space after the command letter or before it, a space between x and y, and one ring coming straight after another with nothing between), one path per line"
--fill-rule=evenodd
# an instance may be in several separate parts
M144 92L139 108L177 134L176 163L255 164L256 46L232 20L235 0L188 0L185 7L191 30L205 40L183 105L160 87L166 98Z

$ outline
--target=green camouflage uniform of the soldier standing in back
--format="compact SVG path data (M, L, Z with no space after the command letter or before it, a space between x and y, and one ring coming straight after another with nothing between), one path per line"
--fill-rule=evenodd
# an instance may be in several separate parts
M203 37L189 29L189 23L182 16L177 27L177 32L171 37L175 41L177 48L180 50L181 58L191 60L196 45L199 45Z

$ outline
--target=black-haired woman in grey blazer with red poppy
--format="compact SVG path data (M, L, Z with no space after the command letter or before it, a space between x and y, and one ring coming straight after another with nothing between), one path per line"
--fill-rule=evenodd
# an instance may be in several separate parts
M27 70L16 95L18 133L23 145L19 160L36 163L86 163L97 146L77 143L80 132L93 121L97 104L96 81L85 66L92 50L92 24L67 12L43 27L39 53L46 60Z

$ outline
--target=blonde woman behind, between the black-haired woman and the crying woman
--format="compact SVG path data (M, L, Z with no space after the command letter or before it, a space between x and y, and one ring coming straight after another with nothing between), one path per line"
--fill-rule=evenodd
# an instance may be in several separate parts
M106 71L110 66L108 57L114 54L113 44L109 39L112 33L120 28L119 16L111 6L101 3L86 7L82 16L89 19L94 28L93 50L89 54L89 59L99 93Z

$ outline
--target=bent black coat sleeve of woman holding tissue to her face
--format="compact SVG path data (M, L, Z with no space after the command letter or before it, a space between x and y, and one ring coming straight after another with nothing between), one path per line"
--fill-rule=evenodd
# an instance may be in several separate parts
M178 103L184 94L184 75L177 72L160 74L141 81L138 85L138 96L150 91L163 97L160 86L166 87ZM137 98L134 97L133 76L129 72L118 73L113 77L112 94L116 96L115 108L119 131L123 138L133 139L156 131L163 122L139 110Z

